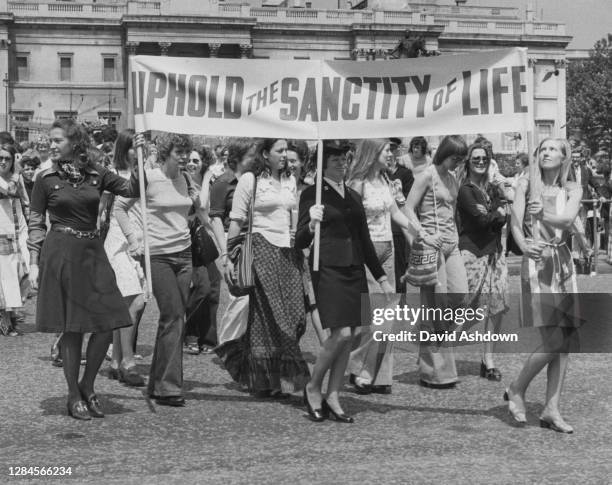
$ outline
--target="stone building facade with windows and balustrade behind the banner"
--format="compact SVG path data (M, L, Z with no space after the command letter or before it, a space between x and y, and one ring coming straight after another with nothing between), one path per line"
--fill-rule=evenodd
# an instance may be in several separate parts
M126 127L131 54L376 61L421 38L426 51L440 55L527 47L537 134L564 134L571 37L563 24L514 8L402 0L389 4L394 10L378 2L350 9L342 0L345 8L321 9L314 8L321 2L0 0L0 126L22 140L65 116ZM521 148L511 133L498 134L496 143L502 151Z

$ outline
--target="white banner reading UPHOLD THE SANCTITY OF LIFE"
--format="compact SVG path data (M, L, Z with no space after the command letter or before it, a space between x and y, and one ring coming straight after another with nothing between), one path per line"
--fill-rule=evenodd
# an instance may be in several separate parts
M137 132L303 139L533 129L523 48L391 61L134 56Z

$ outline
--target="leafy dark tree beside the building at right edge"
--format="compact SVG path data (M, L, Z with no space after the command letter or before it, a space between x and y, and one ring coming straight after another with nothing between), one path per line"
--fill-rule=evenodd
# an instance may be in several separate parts
M569 131L580 130L591 150L612 139L612 34L595 43L588 59L569 64L567 114Z

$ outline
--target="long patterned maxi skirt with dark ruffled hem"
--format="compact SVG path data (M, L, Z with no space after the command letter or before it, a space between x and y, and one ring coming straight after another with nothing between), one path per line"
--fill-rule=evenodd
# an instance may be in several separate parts
M310 378L299 347L306 329L301 255L254 234L253 267L246 332L215 351L232 378L249 391L295 392Z

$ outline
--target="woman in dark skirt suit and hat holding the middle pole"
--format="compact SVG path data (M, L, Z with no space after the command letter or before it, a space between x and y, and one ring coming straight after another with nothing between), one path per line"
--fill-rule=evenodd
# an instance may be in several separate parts
M319 271L312 273L312 282L321 323L331 330L331 335L304 388L304 404L313 421L323 421L331 414L337 421L353 422L342 410L338 391L344 381L355 329L361 325L361 294L368 292L364 263L382 291L393 293L370 239L361 197L344 184L348 149L337 141L324 142L322 204L315 204L315 187L302 192L295 236L295 246L307 248L316 222L321 221ZM310 263L312 268L312 258ZM324 399L321 387L328 370Z

